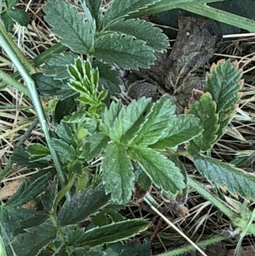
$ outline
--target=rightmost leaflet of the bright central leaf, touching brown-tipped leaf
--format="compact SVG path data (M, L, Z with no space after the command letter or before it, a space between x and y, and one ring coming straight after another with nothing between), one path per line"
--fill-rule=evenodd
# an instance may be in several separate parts
M193 115L180 115L171 117L168 123L168 131L164 137L150 145L153 149L166 149L179 146L184 142L194 139L203 132L200 120Z

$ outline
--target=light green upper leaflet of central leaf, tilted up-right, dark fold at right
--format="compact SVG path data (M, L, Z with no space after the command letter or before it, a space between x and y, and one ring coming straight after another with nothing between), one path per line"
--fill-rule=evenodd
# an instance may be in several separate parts
M114 107L114 103L111 104L111 107L112 105ZM104 115L106 115L106 112L109 112L107 115L111 117L110 112L114 110L111 107L109 110L105 111ZM126 141L126 137L124 137L124 139L122 139L122 137L131 128L133 128L133 126L136 126L138 129L140 129L143 122L145 121L144 116L146 112L150 110L150 107L151 107L151 102L150 102L150 99L148 98L143 97L137 101L133 100L131 103L129 103L128 106L122 105L122 108L120 109L119 113L116 112L117 116L115 116L115 119L113 121L111 120L110 127L106 123L108 121L106 120L106 118L103 118L103 123L101 124L101 126L105 128L105 130L108 132L108 135L113 141L115 142L120 142L120 140ZM113 113L113 115L115 115L115 113ZM142 119L142 122L139 122L140 119ZM108 127L105 127L106 125Z

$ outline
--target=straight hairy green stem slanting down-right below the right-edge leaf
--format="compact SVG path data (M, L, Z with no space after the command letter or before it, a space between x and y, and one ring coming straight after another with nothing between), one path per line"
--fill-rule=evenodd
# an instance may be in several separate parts
M214 204L215 207L217 207L220 211L222 211L224 215L228 216L230 220L234 220L235 218L240 218L240 216L233 213L233 211L231 211L228 207L226 207L219 199L217 199L216 197L214 197L214 195L212 195L207 190L205 190L205 188L202 188L199 183L197 183L190 177L188 177L188 183L189 183L189 186L191 186L192 188L194 188L194 190L196 190L196 192L200 193L200 195L205 197L205 199L210 201L212 204Z

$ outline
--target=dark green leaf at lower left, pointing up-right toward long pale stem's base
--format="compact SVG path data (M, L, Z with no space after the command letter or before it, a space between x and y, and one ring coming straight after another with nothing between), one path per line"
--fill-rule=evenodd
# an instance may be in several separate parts
M45 191L48 186L48 181L52 178L52 174L48 172L41 177L38 177L34 181L23 181L20 184L17 192L11 197L6 205L11 206L23 206L27 202L35 199L40 193Z

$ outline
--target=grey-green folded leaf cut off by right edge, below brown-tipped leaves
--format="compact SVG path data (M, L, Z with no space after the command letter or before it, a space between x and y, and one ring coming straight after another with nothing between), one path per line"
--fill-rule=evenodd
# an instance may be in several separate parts
M221 162L206 156L194 158L196 169L207 178L208 181L217 184L231 195L240 195L244 199L255 199L255 176L237 169L228 163Z

